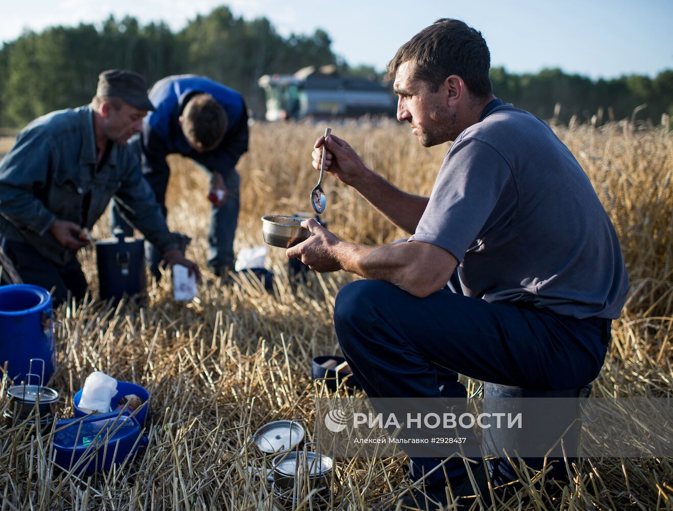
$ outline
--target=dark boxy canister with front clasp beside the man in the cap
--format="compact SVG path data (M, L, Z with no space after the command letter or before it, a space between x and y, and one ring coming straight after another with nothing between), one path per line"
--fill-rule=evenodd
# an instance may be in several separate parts
M119 231L116 238L96 242L98 265L98 296L118 304L123 296L143 301L147 294L145 250L143 240L125 238Z

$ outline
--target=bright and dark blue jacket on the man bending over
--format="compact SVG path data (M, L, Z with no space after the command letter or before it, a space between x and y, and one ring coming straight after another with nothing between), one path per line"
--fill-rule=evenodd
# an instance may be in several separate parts
M229 118L222 141L212 151L203 153L192 149L179 121L188 100L200 93L213 96ZM143 174L168 175L166 156L181 154L211 172L219 172L226 180L248 150L248 112L243 96L205 76L174 75L157 81L149 91L149 100L156 110L143 119Z

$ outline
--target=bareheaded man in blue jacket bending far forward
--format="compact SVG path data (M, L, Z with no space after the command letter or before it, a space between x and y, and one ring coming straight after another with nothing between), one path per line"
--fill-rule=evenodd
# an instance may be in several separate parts
M238 224L239 177L236 164L248 150L248 113L243 97L217 81L197 75L168 76L149 91L156 110L143 121L141 163L145 179L157 202L166 210L169 154L181 154L211 174L209 199L211 226L208 233L208 265L215 275L227 275L234 265L234 235ZM136 143L136 141L134 141ZM116 211L112 229L121 226L131 233ZM158 274L156 252L148 262Z

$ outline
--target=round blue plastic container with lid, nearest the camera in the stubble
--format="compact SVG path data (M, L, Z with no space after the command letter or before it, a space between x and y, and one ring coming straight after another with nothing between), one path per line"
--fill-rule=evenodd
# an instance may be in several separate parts
M90 474L120 465L147 445L141 425L127 412L92 415L85 419L57 421L57 429L68 426L54 436L56 463L64 470Z

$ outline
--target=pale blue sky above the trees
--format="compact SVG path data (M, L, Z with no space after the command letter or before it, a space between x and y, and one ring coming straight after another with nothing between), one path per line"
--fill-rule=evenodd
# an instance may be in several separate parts
M100 22L113 13L173 30L225 3L246 19L266 16L278 32L322 28L349 64L384 69L395 50L437 18L458 18L481 30L493 66L514 73L561 67L598 77L656 75L673 69L673 0L2 0L0 41L24 28Z

